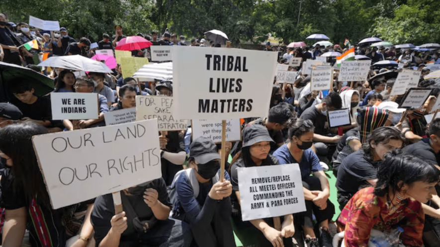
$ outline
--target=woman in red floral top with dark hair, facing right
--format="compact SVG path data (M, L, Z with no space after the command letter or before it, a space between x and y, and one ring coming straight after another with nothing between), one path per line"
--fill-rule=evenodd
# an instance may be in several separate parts
M388 231L402 227L405 246L422 246L425 221L421 203L437 194L439 170L397 151L388 153L377 172L375 187L359 190L337 220L345 230L347 247L366 247L372 229Z

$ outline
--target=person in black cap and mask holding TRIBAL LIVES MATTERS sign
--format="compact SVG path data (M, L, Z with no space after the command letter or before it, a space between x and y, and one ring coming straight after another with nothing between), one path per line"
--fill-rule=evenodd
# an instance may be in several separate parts
M199 247L234 247L229 221L232 185L226 171L224 180L219 180L217 146L206 137L195 139L189 147L188 164L189 170L180 172L173 181L177 194L173 217L190 225ZM198 186L196 190L193 184Z

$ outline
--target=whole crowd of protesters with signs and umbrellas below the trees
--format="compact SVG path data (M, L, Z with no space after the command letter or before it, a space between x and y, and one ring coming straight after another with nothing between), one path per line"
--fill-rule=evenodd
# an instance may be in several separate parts
M107 189L107 193L95 198L54 209L60 205L55 204L51 192L56 186L49 184L52 175L44 162L48 159L41 153L44 149L38 149L35 136L62 138L61 134L66 134L66 148L74 150L84 145L81 148L90 150L97 145L90 137L95 133L92 131L151 119L145 116L139 119L138 108L152 103L146 99L153 97L161 99L156 102L169 104L164 102L173 97L175 105L186 104L176 102L182 94L191 95L178 91L185 85L176 85L173 72L169 78L136 76L146 66L167 63L174 63L171 69L176 73L176 60L181 57L174 53L173 59L158 61L155 49L163 49L160 53L164 54L180 48L194 54L204 49L212 54L216 54L212 52L215 49L224 53L238 50L229 48L227 37L217 39L208 34L187 42L184 36L170 33L168 29L163 33L155 31L150 35L127 37L123 27L116 25L112 32L113 36L103 33L101 41L91 43L87 37L69 36L69 30L64 27L43 32L30 23L8 22L6 16L0 14L1 246L439 246L440 45L392 45L374 37L355 44L347 39L341 45L330 43L326 37L309 38L308 43L310 40L319 42L314 45L293 42L278 48L267 42L264 51L249 51L261 56L270 54L268 56L276 59L265 63L273 66L266 66L262 71L272 78L263 85L270 83L270 86L253 89L262 91L270 99L264 102L268 112L260 118L243 117L234 122L239 128L238 139L214 140L212 134L197 136L198 122L184 118L186 109L183 109L179 116L183 116L180 119L186 124L159 124L157 131L144 129L149 139L159 143L160 150L149 152L148 159L151 165L157 158L161 177L121 187L119 203L111 193L114 191ZM130 48L122 49L123 46ZM230 56L226 60L225 56L213 55L209 60L208 56L211 55L206 55L208 70L211 66L211 70L245 73L255 64L246 58L240 61L240 57ZM134 58L142 64L124 63ZM76 69L78 61L83 65L91 61L90 64L101 67ZM52 63L45 65L49 62ZM128 70L129 66L135 69ZM206 66L194 69L201 71ZM215 84L211 78L209 93L233 93L234 90L237 93L246 86L244 79L235 79L235 85L230 79L226 86L224 80L220 80ZM77 99L75 94L84 97L83 100ZM70 98L61 98L63 95ZM207 105L198 103L199 112L220 112L214 100L209 105L210 95L206 93ZM60 100L55 101L56 98ZM90 106L84 103L89 98L92 98L94 115L86 115L91 114ZM141 104L142 100L138 99L145 101ZM238 103L220 100L221 113L226 102L227 112L231 102L232 112L236 114L252 111L258 108L253 105L256 99L243 99L243 102L239 99ZM67 106L71 101L81 107ZM109 124L108 114L118 116L117 113L135 108L136 122L133 119ZM56 117L54 109L58 111ZM72 117L75 114L94 117L79 119ZM161 126L168 126L169 130L161 130L164 128ZM128 127L124 131L118 129L114 139L106 139L102 132L103 141L116 141L118 135L130 136ZM133 136L140 138L141 135L137 125ZM51 142L52 148L63 152L66 148L56 149L55 140ZM118 149L126 150L124 148L119 145L100 152L111 156L120 152ZM81 151L76 154L83 156ZM99 155L96 153L90 160L97 160ZM142 157L144 167L144 154ZM76 157L58 160L54 156L54 162L49 165L52 170L59 169L65 166L59 163L69 163L69 159ZM224 175L221 160L225 162ZM136 157L125 164L120 159L113 160L111 167L108 163L108 174L110 171L133 173L137 162L140 161ZM126 168L126 164L130 167ZM301 203L295 197L276 200L269 214L273 217L250 216L252 211L243 206L249 204L249 188L244 189L243 181L248 177L243 171L288 166L297 167L298 172L283 173L278 180L284 180L283 186L293 188L295 183L287 181L298 176L296 181L302 183L298 198L302 198L299 201L303 202L303 210L275 216L278 207L287 210L299 207ZM53 176L61 181L59 186L105 175L95 171L96 164L88 165L86 179L77 168L69 169L75 174L72 181L76 182L64 183L63 170L56 170ZM264 175L259 176L262 177L252 179L259 191L253 194L256 203L250 207L254 210L266 207L266 200L258 202L260 197L267 201L284 197L284 192L272 193L275 186L268 185L270 182L263 179ZM260 186L265 184L268 186ZM269 193L263 193L262 188ZM251 192L253 189L251 187ZM94 185L84 190L93 191ZM65 198L86 192L89 191L66 193ZM122 210L117 210L120 204Z

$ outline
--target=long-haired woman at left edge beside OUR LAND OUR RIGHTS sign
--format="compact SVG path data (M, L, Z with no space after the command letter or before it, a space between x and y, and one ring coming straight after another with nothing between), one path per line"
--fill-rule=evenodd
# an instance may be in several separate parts
M1 174L3 246L21 246L26 228L33 247L70 246L66 244L65 220L72 216L71 207L52 209L32 146L32 136L46 133L45 127L33 122L10 124L0 130L0 156L6 160ZM85 219L80 236L73 241L75 247L86 247L93 233L88 215Z

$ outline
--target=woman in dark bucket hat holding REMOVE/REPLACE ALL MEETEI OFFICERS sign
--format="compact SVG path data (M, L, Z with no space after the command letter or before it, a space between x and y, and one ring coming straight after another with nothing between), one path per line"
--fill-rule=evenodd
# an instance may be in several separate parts
M281 229L276 230L273 218L242 221L240 208L240 189L238 168L278 165L278 160L269 154L270 138L267 128L260 124L250 124L243 131L243 148L231 167L232 184L232 221L235 234L244 246L256 247L293 247L291 237L295 233L293 215L281 217Z

